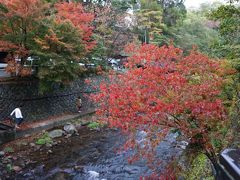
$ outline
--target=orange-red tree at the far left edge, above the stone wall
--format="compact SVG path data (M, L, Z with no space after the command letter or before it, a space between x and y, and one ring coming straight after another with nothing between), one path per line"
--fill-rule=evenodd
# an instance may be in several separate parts
M28 76L31 74L31 69L22 67L30 50L27 47L28 34L37 30L38 27L34 25L34 22L42 20L48 4L40 0L0 0L0 4L6 8L5 11L0 12L3 19L0 51L9 53L5 59L8 63L6 71ZM21 64L18 64L16 59L19 59Z

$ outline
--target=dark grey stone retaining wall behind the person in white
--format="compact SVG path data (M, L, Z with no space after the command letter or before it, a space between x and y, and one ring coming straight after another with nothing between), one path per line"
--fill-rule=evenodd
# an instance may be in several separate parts
M98 76L89 77L96 80ZM46 119L50 116L77 113L77 97L83 101L82 110L93 108L88 95L96 92L93 86L80 78L63 90L55 88L51 93L41 95L38 92L38 81L18 80L0 82L0 121L6 119L15 107L22 104L22 113L26 121Z

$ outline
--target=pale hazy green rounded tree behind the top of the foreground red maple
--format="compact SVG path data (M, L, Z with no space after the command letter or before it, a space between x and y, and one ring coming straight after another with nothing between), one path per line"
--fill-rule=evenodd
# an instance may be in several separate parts
M217 23L205 17L205 10L189 11L186 19L173 29L176 46L189 52L192 46L197 46L199 51L211 55L211 46L220 37L215 29Z

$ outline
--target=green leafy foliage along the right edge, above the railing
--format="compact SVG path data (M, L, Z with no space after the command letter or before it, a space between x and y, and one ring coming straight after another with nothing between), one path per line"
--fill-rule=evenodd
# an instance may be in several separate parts
M240 144L240 6L233 3L238 2L238 0L229 1L228 5L222 5L210 14L213 20L219 22L218 31L221 35L212 49L218 57L227 58L238 71L224 89L230 102L234 142L237 145Z

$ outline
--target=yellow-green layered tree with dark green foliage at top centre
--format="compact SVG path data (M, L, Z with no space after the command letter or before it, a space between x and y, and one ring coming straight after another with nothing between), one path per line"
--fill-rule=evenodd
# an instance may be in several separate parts
M137 25L141 27L138 33L146 37L147 30L150 43L157 45L170 44L175 39L173 29L186 17L183 1L142 0L140 4L141 7L136 16Z

